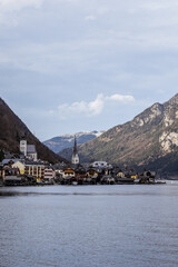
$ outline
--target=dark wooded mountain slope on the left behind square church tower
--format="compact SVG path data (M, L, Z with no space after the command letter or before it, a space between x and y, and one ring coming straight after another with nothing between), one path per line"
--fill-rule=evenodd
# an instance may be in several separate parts
M42 145L0 98L0 148L19 154L19 141L24 137L28 144L36 145L40 159L48 160L51 164L66 161L66 159Z

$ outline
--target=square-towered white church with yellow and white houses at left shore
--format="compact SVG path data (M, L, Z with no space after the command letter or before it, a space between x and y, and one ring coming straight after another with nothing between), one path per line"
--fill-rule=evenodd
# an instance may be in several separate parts
M52 182L55 170L47 161L38 159L34 145L20 141L20 155L4 152L0 162L0 181L4 186Z

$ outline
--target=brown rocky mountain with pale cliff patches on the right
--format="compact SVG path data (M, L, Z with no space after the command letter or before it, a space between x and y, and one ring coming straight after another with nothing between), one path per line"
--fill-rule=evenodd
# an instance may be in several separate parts
M81 161L106 160L178 174L178 95L81 145L78 151Z

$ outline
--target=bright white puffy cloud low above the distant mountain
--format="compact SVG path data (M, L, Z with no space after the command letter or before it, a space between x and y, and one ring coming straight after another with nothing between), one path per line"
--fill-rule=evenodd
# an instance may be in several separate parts
M95 100L92 101L79 101L79 102L72 102L63 103L58 107L58 113L61 119L66 119L69 117L76 117L76 116L85 116L85 117L95 117L102 113L103 108L107 108L107 105L109 102L120 102L120 103L128 103L135 101L135 98L132 96L122 96L122 95L112 95L112 96L103 96L102 93L99 93Z

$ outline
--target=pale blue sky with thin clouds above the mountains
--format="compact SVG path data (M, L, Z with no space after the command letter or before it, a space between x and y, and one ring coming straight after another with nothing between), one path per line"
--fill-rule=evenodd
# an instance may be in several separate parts
M177 0L0 0L0 97L41 140L178 92Z

